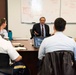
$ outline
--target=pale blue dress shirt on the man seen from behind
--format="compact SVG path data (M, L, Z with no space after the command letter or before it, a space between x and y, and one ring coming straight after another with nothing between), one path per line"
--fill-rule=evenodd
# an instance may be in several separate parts
M76 60L76 43L72 38L67 37L62 32L56 32L55 35L43 40L39 49L38 58L41 60L46 53L58 50L73 51Z

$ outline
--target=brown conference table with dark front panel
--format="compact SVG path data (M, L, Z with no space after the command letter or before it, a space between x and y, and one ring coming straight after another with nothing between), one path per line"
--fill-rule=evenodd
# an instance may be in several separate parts
M31 75L37 75L38 49L32 46L32 40L13 40L12 43L21 43L26 50L18 50L22 56L22 62L27 65Z

